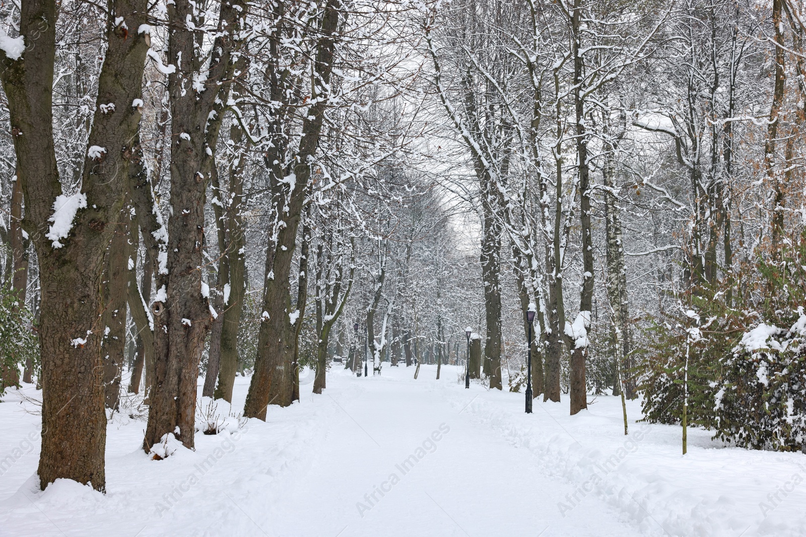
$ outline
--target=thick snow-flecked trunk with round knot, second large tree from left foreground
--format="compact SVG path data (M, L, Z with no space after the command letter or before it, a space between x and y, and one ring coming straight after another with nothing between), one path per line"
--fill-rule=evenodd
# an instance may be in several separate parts
M239 42L237 21L247 3L221 2L218 28L204 89L193 88L194 73L205 68L205 52L196 32L185 23L193 19L195 3L177 0L168 4L172 27L168 61L181 64L168 75L171 111L171 205L164 266L159 267L157 287L164 298L154 304L154 390L143 449L150 452L165 435L173 434L187 448L194 446L198 365L213 319L210 304L202 296L204 206L207 181L215 166L214 155L222 114L229 100L232 54Z

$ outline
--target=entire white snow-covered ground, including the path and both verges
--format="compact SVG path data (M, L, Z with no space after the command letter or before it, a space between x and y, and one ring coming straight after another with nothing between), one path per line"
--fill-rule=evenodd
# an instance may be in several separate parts
M0 404L0 535L806 535L806 456L725 448L691 430L635 423L614 397L563 403L465 390L459 371L339 367L325 394L270 407L238 432L197 433L196 451L148 461L145 423L115 416L107 494L73 481L40 492L39 416ZM247 378L238 378L234 410ZM27 393L35 395L29 387Z

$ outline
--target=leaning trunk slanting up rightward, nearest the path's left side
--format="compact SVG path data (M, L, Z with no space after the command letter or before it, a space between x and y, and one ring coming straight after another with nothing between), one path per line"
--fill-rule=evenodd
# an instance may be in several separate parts
M314 64L314 71L318 73L315 78L318 81L314 82L314 87L311 89L311 101L314 105L311 105L302 123L303 137L297 159L294 159L292 171L296 177L295 187L285 194L286 203L278 205L278 208L284 211L281 217L284 225L276 222L276 233L272 233L272 237L276 239L267 250L263 311L268 317L264 317L260 323L255 373L252 375L247 402L243 409L243 415L249 418L266 419L268 405L287 407L293 401L291 362L296 345L296 331L289 320L289 312L292 311L289 275L302 204L310 180L309 159L313 159L316 153L319 135L322 132L326 99L321 97L326 94L323 86L330 84L334 53L333 35L339 27L341 15L339 7L339 0L329 0L324 8L321 37Z

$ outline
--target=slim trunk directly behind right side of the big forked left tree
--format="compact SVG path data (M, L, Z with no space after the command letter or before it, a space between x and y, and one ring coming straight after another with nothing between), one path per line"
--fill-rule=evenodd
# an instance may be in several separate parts
M123 354L126 351L126 303L129 284L129 225L131 213L124 208L114 226L106 271L106 304L102 317L109 329L102 344L103 383L106 407L118 409Z

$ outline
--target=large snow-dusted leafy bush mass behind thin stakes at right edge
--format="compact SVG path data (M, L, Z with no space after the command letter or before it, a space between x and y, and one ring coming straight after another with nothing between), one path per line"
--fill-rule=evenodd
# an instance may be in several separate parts
M692 287L678 312L651 320L642 334L645 419L679 423L688 365L688 423L742 447L803 449L804 308L806 231Z

